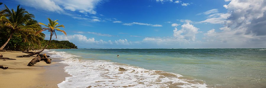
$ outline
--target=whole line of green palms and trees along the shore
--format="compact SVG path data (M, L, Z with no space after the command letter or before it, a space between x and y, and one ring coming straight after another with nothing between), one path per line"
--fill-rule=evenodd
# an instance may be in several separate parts
M2 4L0 3L0 5ZM69 41L51 40L53 35L56 36L56 32L67 35L65 31L60 29L65 28L65 26L59 25L58 20L47 18L49 23L46 25L36 21L34 15L21 8L20 5L17 6L16 10L4 6L0 11L0 50L28 51L42 49L39 52L21 56L30 57L46 48L77 48ZM44 40L45 34L42 33L43 31L50 32L50 40Z

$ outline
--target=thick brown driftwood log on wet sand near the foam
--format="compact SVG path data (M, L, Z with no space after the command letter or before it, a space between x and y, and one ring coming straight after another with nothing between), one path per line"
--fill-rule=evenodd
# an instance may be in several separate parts
M40 57L40 55L38 55L37 57L35 57L35 58L33 58L30 62L29 62L29 64L27 65L27 66L32 66L32 65L34 65L34 64L36 64L37 62L40 62L40 61L44 61L44 62L46 62L46 64L50 64L51 63L51 59L49 59L47 56L46 56L46 54L43 54L44 55L44 57L42 58L42 57Z

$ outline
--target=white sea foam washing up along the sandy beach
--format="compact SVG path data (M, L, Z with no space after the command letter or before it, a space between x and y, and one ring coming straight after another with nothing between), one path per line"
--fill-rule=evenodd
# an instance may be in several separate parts
M69 66L65 71L72 77L57 84L59 88L86 88L86 87L200 87L207 85L202 80L187 79L182 75L158 70L146 70L115 62L103 60L79 60L76 55L66 52L51 51L61 57Z

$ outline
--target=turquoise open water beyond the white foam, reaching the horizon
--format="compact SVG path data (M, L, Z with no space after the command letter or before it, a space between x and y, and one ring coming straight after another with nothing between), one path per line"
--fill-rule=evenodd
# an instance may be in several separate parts
M207 87L266 87L265 49L56 49L205 81ZM119 57L117 57L119 55Z

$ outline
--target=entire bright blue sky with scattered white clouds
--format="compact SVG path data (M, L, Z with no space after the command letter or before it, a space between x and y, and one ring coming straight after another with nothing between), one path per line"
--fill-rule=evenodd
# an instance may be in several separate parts
M266 0L1 0L78 48L266 48ZM4 8L4 5L1 5ZM48 31L44 31L49 40Z

